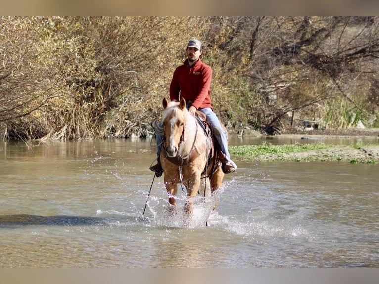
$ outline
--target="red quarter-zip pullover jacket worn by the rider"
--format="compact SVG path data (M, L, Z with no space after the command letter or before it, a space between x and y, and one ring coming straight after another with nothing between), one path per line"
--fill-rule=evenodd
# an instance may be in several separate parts
M210 86L212 81L212 69L200 58L190 67L188 59L183 65L177 67L170 84L170 99L179 101L180 96L186 102L192 101L192 106L198 108L210 107ZM213 109L213 108L212 108Z

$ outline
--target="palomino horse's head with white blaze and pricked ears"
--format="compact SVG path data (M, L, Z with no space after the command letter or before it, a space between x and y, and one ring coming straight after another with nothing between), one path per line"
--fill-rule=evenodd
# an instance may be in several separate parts
M163 114L164 135L166 138L166 153L169 157L175 157L179 150L184 125L187 118L186 100L182 98L180 102L168 102L163 98Z

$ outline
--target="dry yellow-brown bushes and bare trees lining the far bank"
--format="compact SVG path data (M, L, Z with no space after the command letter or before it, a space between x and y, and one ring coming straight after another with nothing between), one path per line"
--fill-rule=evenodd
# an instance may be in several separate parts
M0 16L0 27L1 138L152 135L195 37L230 133L303 119L378 127L377 16Z

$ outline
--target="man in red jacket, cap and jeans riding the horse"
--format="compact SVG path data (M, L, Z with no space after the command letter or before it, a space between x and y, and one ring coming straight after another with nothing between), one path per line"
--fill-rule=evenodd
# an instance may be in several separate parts
M224 173L232 173L237 169L236 164L230 159L228 151L227 133L222 129L221 123L213 112L210 98L210 86L212 81L212 69L204 64L200 56L202 54L201 42L192 39L186 48L187 59L183 65L177 67L170 84L171 101L179 101L179 95L187 102L187 109L194 115L196 110L206 115L207 121L212 125L214 137L220 145L222 152L222 170ZM157 137L157 164L150 167L157 177L163 173L160 165L159 154L163 141L163 125L156 129Z

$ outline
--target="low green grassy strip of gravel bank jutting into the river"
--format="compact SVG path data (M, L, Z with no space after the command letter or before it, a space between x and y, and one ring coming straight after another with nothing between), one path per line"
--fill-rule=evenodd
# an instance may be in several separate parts
M364 148L375 149L375 153L365 155ZM355 163L375 164L379 162L378 145L326 145L326 144L290 144L230 146L229 152L234 159L240 161L347 161Z

